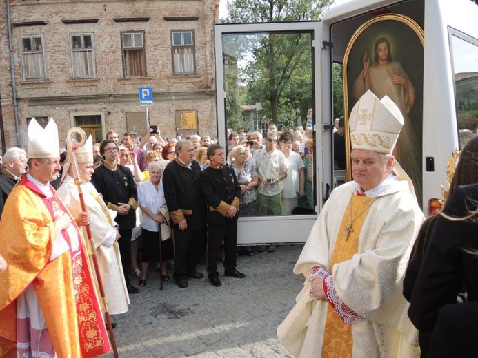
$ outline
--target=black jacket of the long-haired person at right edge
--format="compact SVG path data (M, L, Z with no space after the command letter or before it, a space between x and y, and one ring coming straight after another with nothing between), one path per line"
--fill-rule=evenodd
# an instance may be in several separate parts
M444 213L464 218L478 207L478 185L457 187ZM468 301L478 301L478 215L468 220L437 217L418 273L408 316L431 337L439 310L454 304L465 282ZM475 328L476 329L476 328Z

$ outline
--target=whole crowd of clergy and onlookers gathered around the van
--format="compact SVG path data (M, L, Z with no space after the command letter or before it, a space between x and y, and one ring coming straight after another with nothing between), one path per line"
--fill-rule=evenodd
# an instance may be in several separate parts
M478 137L461 151L443 211L424 221L392 156L404 124L396 105L366 92L349 120L353 180L312 227L279 339L296 357L471 356ZM337 133L343 143L342 118ZM219 260L225 276L246 277L237 255L254 251L237 247L239 216L315 209L311 133L270 125L264 137L230 131L223 148L209 136L163 140L155 127L141 141L109 131L92 143L74 127L60 156L54 121L33 118L28 151L8 149L0 173L0 357L108 352L110 315L140 292L130 277L143 287L154 269L161 287L170 267L187 288L203 279L204 255L213 286Z

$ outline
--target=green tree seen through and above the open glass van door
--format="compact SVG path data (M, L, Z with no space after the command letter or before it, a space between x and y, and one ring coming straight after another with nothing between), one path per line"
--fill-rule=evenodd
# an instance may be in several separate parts
M333 0L232 0L223 23L255 23L318 20ZM230 39L237 54L247 54L238 69L238 81L248 88L246 100L262 103L260 116L278 124L292 125L313 107L312 35L273 33ZM236 41L236 42L235 42ZM240 55L236 59L242 59ZM229 123L229 118L228 118Z

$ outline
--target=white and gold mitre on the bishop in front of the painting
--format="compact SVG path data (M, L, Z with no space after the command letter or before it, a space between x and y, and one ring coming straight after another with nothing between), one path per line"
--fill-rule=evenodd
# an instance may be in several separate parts
M404 116L388 96L379 99L369 90L355 103L348 124L352 149L392 154Z

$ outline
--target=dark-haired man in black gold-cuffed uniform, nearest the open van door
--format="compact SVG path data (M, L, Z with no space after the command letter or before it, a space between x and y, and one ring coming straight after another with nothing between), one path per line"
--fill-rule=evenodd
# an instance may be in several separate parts
M207 198L208 211L208 277L214 286L221 286L216 257L224 240L224 275L244 278L236 269L237 212L241 187L234 169L224 163L224 149L213 144L208 147L210 165L201 172L199 185Z

